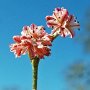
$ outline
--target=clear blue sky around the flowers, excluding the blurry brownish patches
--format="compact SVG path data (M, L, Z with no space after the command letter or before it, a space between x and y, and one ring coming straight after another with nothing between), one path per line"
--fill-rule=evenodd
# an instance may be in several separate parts
M84 31L85 11L89 0L0 0L0 90L18 87L31 90L32 69L27 55L15 58L9 45L12 37L20 35L24 25L35 23L46 27L46 15L55 7L67 8L77 16L81 31L75 30L75 38ZM50 29L46 27L50 33ZM41 60L38 73L38 90L66 90L62 71L74 60L86 59L82 45L74 39L58 37L51 47L51 55Z

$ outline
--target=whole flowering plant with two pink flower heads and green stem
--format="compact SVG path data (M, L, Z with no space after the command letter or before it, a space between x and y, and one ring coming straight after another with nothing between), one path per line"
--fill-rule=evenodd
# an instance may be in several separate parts
M24 26L21 35L14 36L14 44L10 45L11 52L16 57L28 53L33 69L32 90L37 90L37 73L40 59L50 55L52 41L58 37L74 37L74 29L79 28L79 23L73 15L69 15L67 9L55 8L52 16L46 16L47 26L52 29L48 34L44 26L31 24Z

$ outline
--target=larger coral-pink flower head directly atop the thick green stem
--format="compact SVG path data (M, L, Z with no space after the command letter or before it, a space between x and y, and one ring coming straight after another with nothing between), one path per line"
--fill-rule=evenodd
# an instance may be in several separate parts
M31 26L24 26L21 36L13 37L15 43L10 45L10 49L16 57L22 54L29 53L30 58L50 55L51 36L45 32L43 26L31 24Z

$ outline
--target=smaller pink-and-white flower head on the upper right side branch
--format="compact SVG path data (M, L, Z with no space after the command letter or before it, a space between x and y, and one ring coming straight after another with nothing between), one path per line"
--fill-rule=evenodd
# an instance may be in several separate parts
M73 15L69 15L67 9L55 8L52 16L46 16L47 26L51 27L52 35L61 35L66 37L70 35L74 36L73 29L79 28L79 23L76 21Z

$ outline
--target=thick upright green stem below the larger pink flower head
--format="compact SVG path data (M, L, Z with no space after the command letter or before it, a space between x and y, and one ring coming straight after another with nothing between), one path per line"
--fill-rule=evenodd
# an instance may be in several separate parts
M38 77L39 59L35 58L31 62L32 62L32 90L37 90L37 77Z

